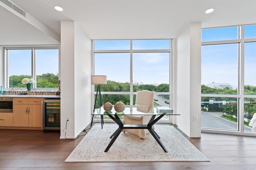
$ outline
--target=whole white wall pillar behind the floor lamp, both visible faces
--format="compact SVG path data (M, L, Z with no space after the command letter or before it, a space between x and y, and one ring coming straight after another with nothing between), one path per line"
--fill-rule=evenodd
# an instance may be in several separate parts
M91 41L75 21L61 21L61 139L75 138L90 124Z

